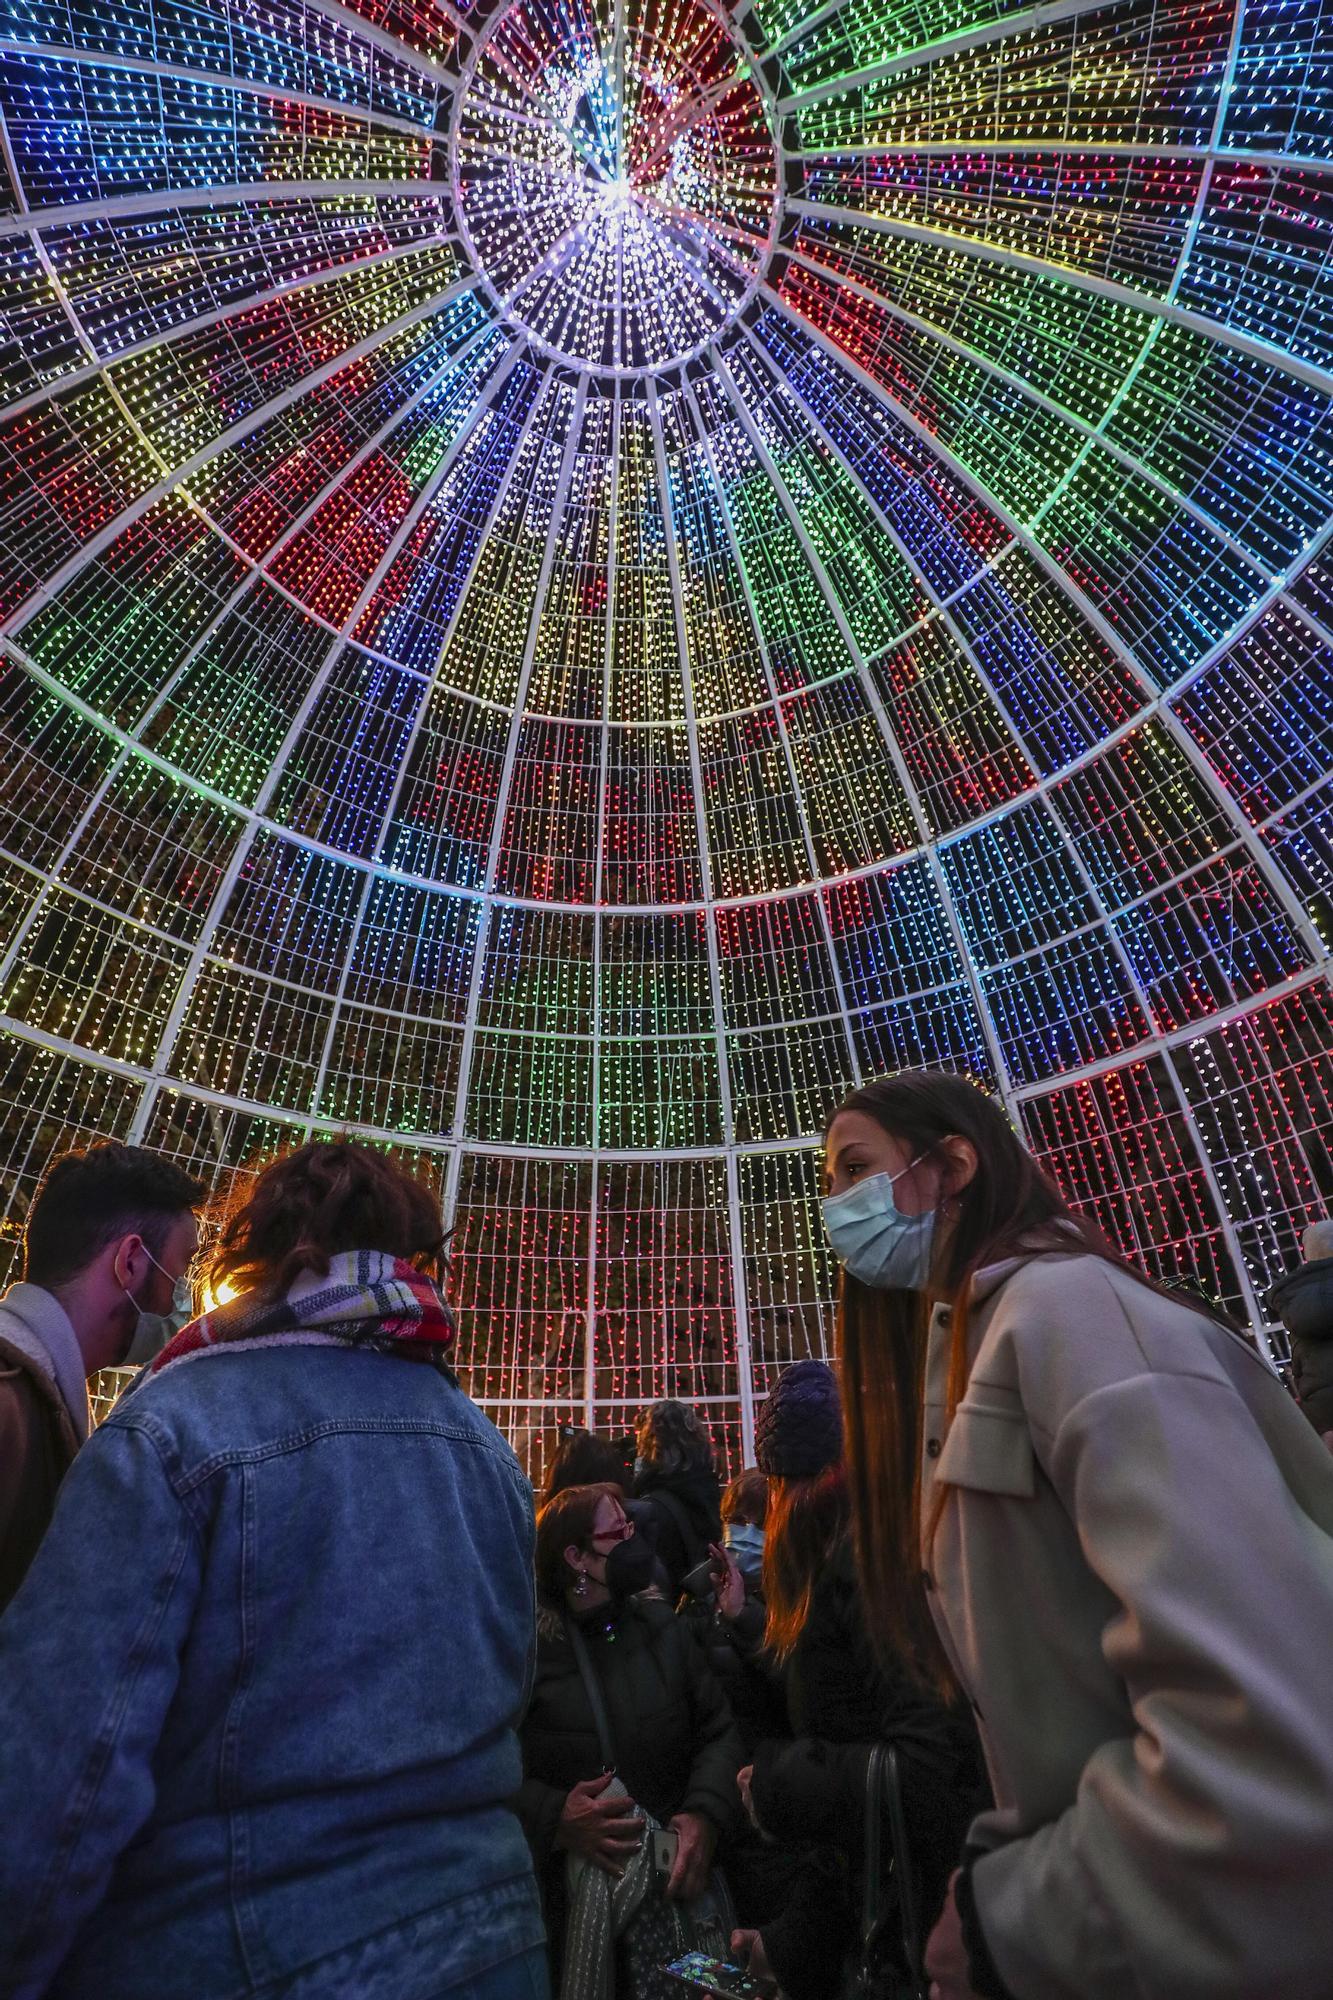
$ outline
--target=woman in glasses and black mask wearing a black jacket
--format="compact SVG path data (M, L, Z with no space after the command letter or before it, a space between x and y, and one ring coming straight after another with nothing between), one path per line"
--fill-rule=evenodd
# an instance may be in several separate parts
M691 1902L739 1818L741 1736L689 1626L638 1596L652 1560L614 1486L568 1486L536 1516L536 1676L516 1804L556 1974L570 1858L618 1880L646 1812L677 1836L664 1892Z

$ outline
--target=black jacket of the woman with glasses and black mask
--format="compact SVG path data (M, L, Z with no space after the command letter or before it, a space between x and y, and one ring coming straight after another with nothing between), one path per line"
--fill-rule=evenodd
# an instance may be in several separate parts
M719 1834L741 1810L741 1736L699 1640L666 1604L638 1598L610 1618L582 1622L624 1790L666 1824L701 1812ZM542 1612L536 1680L520 1730L516 1798L538 1870L552 1860L560 1808L574 1784L596 1778L602 1752L574 1650L558 1612Z

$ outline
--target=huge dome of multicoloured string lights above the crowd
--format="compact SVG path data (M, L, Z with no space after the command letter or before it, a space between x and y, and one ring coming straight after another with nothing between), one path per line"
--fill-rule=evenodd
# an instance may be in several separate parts
M1255 1326L1333 1194L1319 0L0 0L0 1202L366 1136L472 1392L825 1352L963 1068Z

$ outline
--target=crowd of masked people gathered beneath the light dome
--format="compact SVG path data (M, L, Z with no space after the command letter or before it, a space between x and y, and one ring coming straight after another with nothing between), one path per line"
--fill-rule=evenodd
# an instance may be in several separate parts
M1333 1224L1297 1400L963 1078L857 1090L825 1176L837 1366L757 1464L666 1400L534 1498L384 1154L202 1248L170 1160L58 1160L0 1300L0 2000L1333 2000Z

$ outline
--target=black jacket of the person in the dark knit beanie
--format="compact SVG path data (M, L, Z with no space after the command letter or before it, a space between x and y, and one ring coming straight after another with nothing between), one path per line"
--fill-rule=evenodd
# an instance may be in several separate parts
M787 1666L793 1742L755 1752L753 1800L761 1826L807 1856L799 1894L773 1924L765 1950L793 2000L837 1994L859 1936L865 1786L871 1748L899 1752L903 1812L925 1942L945 1902L973 1816L989 1802L981 1744L965 1706L947 1708L905 1668L885 1672L871 1646L851 1544L815 1586L805 1632ZM889 1854L885 1826L883 1852ZM889 1926L891 1930L895 1926Z

